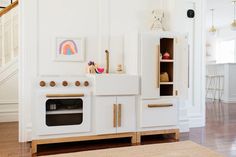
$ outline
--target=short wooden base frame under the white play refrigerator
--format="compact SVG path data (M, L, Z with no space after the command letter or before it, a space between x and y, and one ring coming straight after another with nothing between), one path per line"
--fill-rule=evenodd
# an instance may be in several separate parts
M142 136L163 135L163 134L174 134L174 139L179 140L179 129L142 131L142 132L137 132L137 135L136 135L137 144L141 144Z

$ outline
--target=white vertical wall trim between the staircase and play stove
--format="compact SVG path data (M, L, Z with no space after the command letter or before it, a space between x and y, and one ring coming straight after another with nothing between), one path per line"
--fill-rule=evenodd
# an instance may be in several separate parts
M28 80L37 77L38 68L38 3L19 1L20 55L19 55L19 141L30 141L27 124L31 121L32 84ZM30 8L28 8L30 6ZM31 44L28 44L31 42ZM30 66L29 66L30 65Z

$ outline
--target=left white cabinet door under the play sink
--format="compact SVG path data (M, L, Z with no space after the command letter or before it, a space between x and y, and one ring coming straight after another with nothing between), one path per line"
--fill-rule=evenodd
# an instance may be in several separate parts
M116 133L117 113L114 113L116 97L96 97L95 98L95 130L97 134Z

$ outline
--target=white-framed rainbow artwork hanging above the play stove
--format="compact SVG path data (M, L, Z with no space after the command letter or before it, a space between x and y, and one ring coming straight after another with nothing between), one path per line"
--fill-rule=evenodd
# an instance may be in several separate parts
M56 61L84 61L84 38L57 38Z

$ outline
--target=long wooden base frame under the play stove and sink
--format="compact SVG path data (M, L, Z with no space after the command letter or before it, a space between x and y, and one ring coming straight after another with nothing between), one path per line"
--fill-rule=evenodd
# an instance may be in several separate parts
M91 140L102 140L102 139L112 139L112 138L123 138L131 137L131 143L136 145L137 143L137 133L118 133L118 134L105 134L105 135L94 135L94 136L80 136L80 137L67 137L67 138L55 138L55 139L42 139L32 141L31 153L37 153L37 146L43 144L53 144L53 143L64 143L64 142L79 142L79 141L91 141Z

